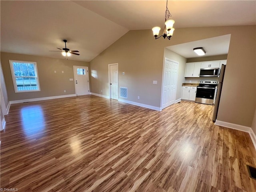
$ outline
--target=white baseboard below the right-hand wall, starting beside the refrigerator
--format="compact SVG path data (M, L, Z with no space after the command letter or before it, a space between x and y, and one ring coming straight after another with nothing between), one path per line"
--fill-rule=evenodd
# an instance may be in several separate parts
M256 149L256 135L254 134L252 128L246 127L246 126L243 126L243 125L234 124L234 123L219 121L219 120L216 120L215 124L218 125L218 126L223 126L223 127L243 131L243 132L248 132L250 137L251 137L254 148Z

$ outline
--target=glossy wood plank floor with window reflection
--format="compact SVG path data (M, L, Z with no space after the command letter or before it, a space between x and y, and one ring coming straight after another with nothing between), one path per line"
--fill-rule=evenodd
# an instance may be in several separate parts
M248 133L213 106L161 112L97 96L14 104L1 132L1 187L32 192L255 192Z

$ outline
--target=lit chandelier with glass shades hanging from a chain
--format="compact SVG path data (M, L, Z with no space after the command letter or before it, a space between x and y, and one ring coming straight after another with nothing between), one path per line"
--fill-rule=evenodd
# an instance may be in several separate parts
M173 28L174 20L171 20L171 19L168 20L169 18L172 17L172 15L171 15L170 11L168 10L167 4L168 4L168 0L166 0L164 33L161 36L164 39L167 37L168 40L170 40L170 38L172 37L172 34L174 32L174 28ZM161 37L161 36L158 36L160 29L161 29L160 27L152 28L153 34L156 39Z

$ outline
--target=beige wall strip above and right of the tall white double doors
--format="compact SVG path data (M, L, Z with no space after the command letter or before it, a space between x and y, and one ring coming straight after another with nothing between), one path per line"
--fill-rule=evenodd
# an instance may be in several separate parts
M164 58L168 58L170 60L174 60L179 63L176 100L181 99L182 83L185 82L184 74L185 74L187 59L167 48L164 48Z

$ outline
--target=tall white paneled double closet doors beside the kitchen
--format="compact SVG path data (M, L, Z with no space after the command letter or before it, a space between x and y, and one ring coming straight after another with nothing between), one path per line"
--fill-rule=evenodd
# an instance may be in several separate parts
M178 80L178 62L164 59L162 109L175 103Z

